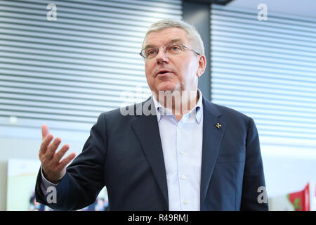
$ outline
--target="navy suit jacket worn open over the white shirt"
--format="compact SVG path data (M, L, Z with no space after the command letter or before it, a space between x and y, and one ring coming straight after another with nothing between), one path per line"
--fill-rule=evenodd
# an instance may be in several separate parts
M258 202L265 179L254 120L204 97L202 103L201 210L268 210ZM86 207L107 186L110 210L169 210L156 115L102 113L56 187L57 203L47 203L40 184L39 172L37 201L53 209Z

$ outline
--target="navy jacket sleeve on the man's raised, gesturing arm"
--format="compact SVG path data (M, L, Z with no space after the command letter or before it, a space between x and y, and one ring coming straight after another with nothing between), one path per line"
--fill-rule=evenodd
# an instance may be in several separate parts
M39 203L55 210L79 210L95 202L105 186L104 164L106 154L105 115L93 125L82 152L67 167L56 188L56 202L49 204L41 191L41 174L37 176L36 198ZM49 193L48 193L49 194Z

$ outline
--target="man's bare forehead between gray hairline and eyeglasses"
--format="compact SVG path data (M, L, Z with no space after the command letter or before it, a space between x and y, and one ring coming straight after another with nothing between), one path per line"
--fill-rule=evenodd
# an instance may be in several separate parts
M162 46L169 44L174 39L182 39L183 44L189 44L189 37L185 30L178 27L170 27L164 30L150 32L145 41L144 46Z

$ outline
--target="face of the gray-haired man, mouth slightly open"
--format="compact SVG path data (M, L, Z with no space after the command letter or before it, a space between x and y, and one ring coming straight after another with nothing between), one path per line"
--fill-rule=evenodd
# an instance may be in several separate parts
M175 40L192 49L187 32L178 27L151 32L145 39L144 46L159 48L156 57L145 61L147 83L157 95L158 91L196 91L198 77L205 70L205 57L197 56L193 51L183 49L176 55L164 53L162 46Z

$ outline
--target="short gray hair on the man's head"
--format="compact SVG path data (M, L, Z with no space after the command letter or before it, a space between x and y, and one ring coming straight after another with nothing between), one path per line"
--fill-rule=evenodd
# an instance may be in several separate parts
M172 20L172 19L159 20L153 23L145 34L145 38L142 44L142 49L144 47L145 39L147 38L148 34L150 34L151 32L157 32L157 31L164 30L166 28L171 28L171 27L178 27L185 30L185 32L187 32L187 35L191 41L193 50L204 55L204 44L203 44L201 36L199 35L199 32L197 32L195 27L181 20Z

